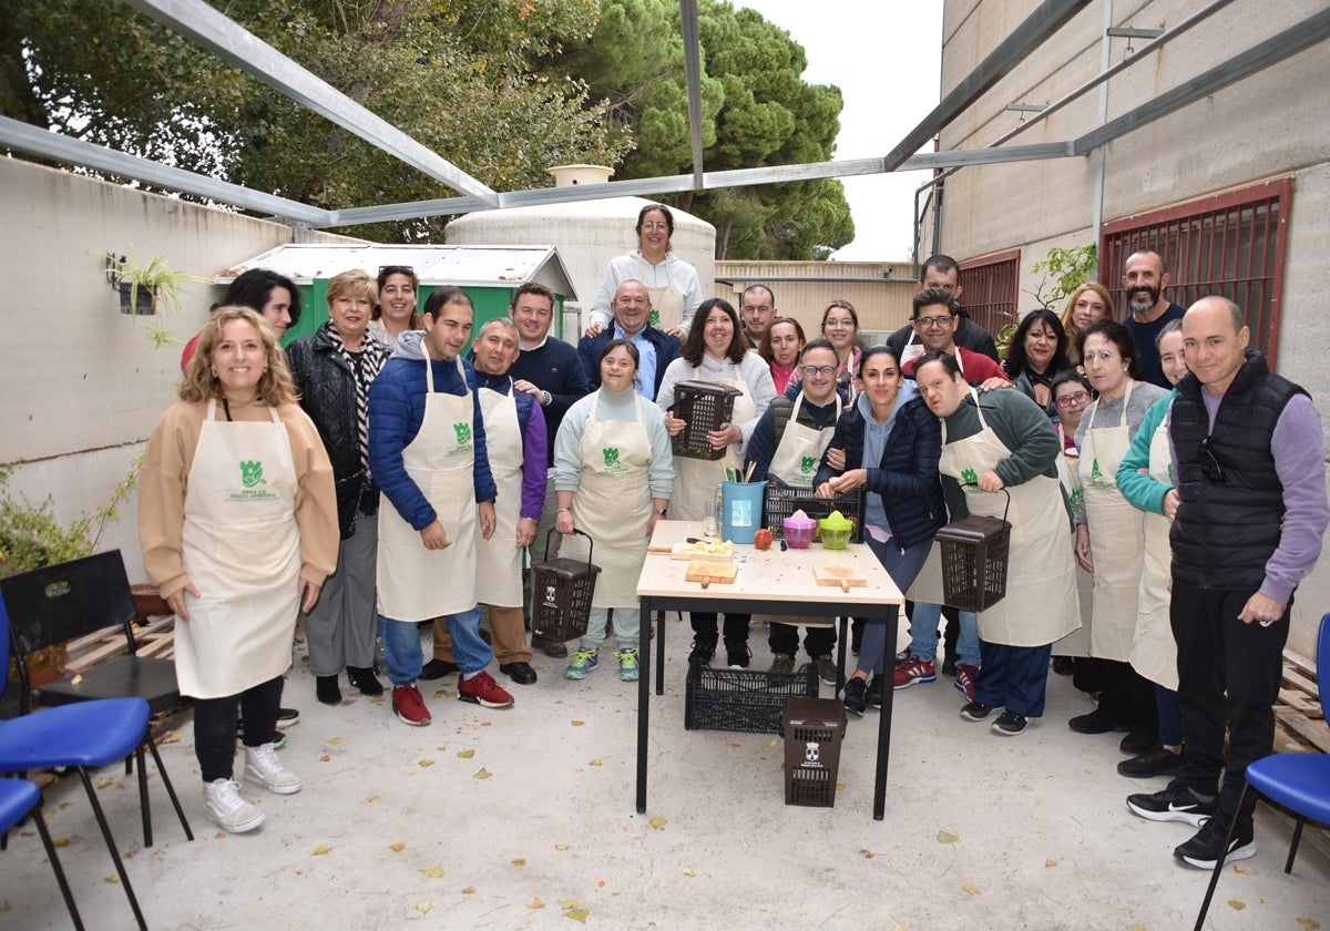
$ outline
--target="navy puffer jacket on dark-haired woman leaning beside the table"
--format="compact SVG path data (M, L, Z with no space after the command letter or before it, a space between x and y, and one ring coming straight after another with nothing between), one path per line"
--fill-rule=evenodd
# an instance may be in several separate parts
M863 414L854 404L841 415L831 438L834 447L845 450L845 468L864 467ZM887 438L887 448L876 467L868 466L867 487L882 496L882 507L891 524L892 541L902 549L931 540L947 523L947 505L938 477L942 458L942 422L934 416L923 398L914 398L896 411L896 426ZM822 454L813 487L839 475Z

